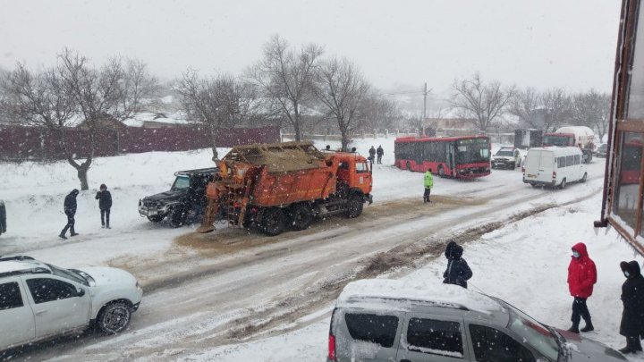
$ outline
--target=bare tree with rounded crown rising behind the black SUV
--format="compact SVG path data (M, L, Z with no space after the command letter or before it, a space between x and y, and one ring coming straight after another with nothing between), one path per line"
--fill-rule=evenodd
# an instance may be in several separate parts
M216 138L219 131L241 122L253 113L256 105L254 88L229 74L202 79L189 69L175 89L181 95L182 110L193 122L208 129L213 160L218 158Z

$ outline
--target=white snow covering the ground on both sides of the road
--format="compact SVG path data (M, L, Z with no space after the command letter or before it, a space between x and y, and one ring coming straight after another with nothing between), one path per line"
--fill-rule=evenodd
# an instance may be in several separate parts
M337 143L329 143L332 147L338 146ZM318 142L320 148L325 145L325 142ZM383 164L374 165L375 203L409 198L420 200L422 174L398 170L391 165L394 161L394 139L356 139L352 146L365 155L372 145L382 145L386 152ZM498 146L495 145L495 148ZM8 233L0 236L0 255L26 253L53 264L78 267L110 265L117 259L136 259L138 256L169 252L176 248L174 238L190 232L193 226L170 229L163 224L149 223L138 215L137 201L169 188L175 171L212 165L210 156L207 150L199 150L97 159L89 172L90 190L81 192L79 196L76 219L80 236L67 241L59 240L56 235L65 223L63 198L71 189L78 188L72 167L64 163L0 164L3 170L0 173L0 184L3 185L0 199L4 199L8 212ZM436 177L433 196L471 197L485 200L492 206L498 205L496 212L468 220L470 225L487 223L538 205L569 202L567 206L554 207L508 223L465 245L464 257L474 272L470 288L495 295L544 323L565 329L570 324L572 304L566 285L570 248L574 243L584 241L590 257L597 264L598 272L595 294L589 299L596 331L588 334L591 338L620 348L623 337L618 334L622 312L619 296L623 275L619 262L635 259L641 263L642 260L620 240L616 232L606 229L596 231L592 227L592 222L599 216L603 162L603 159L595 159L589 165L587 183L570 185L564 190L532 189L521 182L520 171L495 170L490 176L473 181ZM106 183L113 194L112 230L100 229L97 201L94 199L100 183ZM516 206L507 206L513 205L515 199L520 200ZM450 215L455 216L450 217L457 217L458 212L453 211L455 214ZM401 227L436 223L440 217L419 215L418 220L402 224L408 226ZM394 235L395 229L391 229L391 232ZM297 233L292 233L292 238L296 236ZM373 234L365 230L364 237L369 236ZM199 250L182 248L181 252L189 257L191 253L199 253ZM403 280L436 279L442 275L445 264L445 259L438 257L418 268L406 268L386 276ZM144 295L140 313L145 313L146 303ZM274 336L270 338L216 348L204 344L199 348L182 349L180 355L162 353L155 359L323 361L326 358L326 335L332 307L333 303L330 303L292 322L303 325L296 331L279 333L291 329L292 325L284 324L275 327L274 333L270 333ZM136 322L137 316L134 318ZM159 324L157 328L164 327ZM137 331L128 332L131 333L136 334ZM155 341L170 351L174 350L173 342L171 338ZM65 355L61 358L65 359ZM140 360L149 358L139 357ZM631 360L643 361L644 358L637 356Z

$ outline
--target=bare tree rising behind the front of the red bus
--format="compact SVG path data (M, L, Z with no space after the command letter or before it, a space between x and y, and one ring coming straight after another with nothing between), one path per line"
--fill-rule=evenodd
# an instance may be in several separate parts
M482 132L503 114L515 94L514 87L502 87L498 81L486 84L479 73L469 80L454 80L452 88L452 107L460 110L464 117L474 118L474 126Z

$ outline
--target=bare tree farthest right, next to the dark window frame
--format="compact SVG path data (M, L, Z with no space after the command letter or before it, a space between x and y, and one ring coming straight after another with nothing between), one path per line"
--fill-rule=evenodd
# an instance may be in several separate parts
M610 96L590 89L572 97L572 121L597 130L599 139L604 139L610 115Z

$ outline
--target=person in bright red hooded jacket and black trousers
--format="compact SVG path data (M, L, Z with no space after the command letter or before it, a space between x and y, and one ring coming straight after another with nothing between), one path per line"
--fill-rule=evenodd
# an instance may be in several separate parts
M589 332L595 328L590 321L590 312L586 299L592 295L593 285L597 282L597 267L590 259L586 244L578 242L572 247L571 263L568 265L568 289L574 300L572 301L572 327L568 331L580 333L580 319L583 318L586 326L581 332Z

